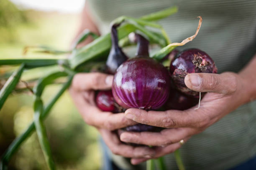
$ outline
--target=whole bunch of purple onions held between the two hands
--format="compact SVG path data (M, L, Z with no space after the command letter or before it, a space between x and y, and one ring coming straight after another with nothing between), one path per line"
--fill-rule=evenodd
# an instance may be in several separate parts
M99 92L96 97L97 106L103 111L117 112L128 108L157 110L160 107L166 110L186 110L200 101L201 93L190 90L184 83L184 77L189 73L217 73L214 61L206 52L199 49L187 49L182 52L174 50L193 40L192 37L181 43L172 43L163 51L168 55L162 58L169 60L169 71L161 64L149 57L148 40L140 34L136 35L137 52L135 57L128 59L118 46L118 34L113 25L111 28L112 48L107 60L108 73L114 74L112 92ZM174 47L174 48L172 48ZM163 52L165 53L165 52ZM167 53L166 53L167 54ZM104 100L104 101L103 101ZM160 131L161 128L150 125L137 124L123 128L125 131ZM118 131L121 133L121 130Z

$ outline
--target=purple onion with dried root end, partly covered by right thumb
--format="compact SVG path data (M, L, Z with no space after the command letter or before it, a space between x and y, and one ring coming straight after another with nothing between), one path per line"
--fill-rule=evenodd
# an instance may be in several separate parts
M171 62L170 75L175 87L186 95L198 95L198 92L187 88L184 78L189 73L217 73L212 58L196 48L184 50Z

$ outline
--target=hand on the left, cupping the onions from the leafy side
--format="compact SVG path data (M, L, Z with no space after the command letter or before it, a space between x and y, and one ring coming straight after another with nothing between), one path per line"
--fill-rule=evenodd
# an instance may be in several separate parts
M113 130L135 125L124 113L102 112L95 103L95 90L111 89L113 75L103 73L79 73L74 76L70 94L88 125L96 127L110 150L129 158L151 158L155 151L149 147L133 147L121 143Z

